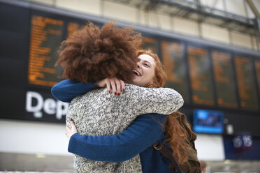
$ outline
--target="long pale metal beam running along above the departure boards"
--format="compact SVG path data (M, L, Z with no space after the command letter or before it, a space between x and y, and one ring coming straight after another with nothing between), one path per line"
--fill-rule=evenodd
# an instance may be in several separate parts
M102 1L122 1L122 0L102 0ZM128 1L128 0L124 0L124 1ZM147 0L129 0L129 1L147 1ZM11 4L11 5L15 5L15 6L22 6L24 8L33 8L36 10L44 10L44 11L48 11L51 13L56 13L58 15L66 15L69 17L77 17L83 20L94 20L96 22L109 22L111 19L107 18L107 17L97 17L95 15L86 15L83 13L77 13L77 12L73 12L71 10L63 10L60 8L56 8L55 6L44 6L43 4L38 4L38 3L34 3L34 2L29 2L29 1L20 1L20 0L10 0L10 1L6 1L6 0L0 0L0 2L2 3L6 3L6 4ZM102 4L101 4L102 6ZM128 22L121 22L118 24L119 27L129 27L131 24L129 24ZM212 46L212 47L219 47L219 48L223 48L223 49L229 49L231 51L234 52L241 52L243 54L250 54L251 56L255 56L258 57L259 56L259 52L256 52L255 50L250 50L250 49L244 49L241 47L237 47L236 45L226 45L223 43L219 43L216 41L212 41L212 40L205 40L205 39L201 39L201 38L197 38L194 36L187 36L184 34L179 34L179 33L173 33L171 31L161 31L160 29L153 29L150 27L144 27L144 26L140 26L139 24L135 24L134 27L137 31L140 32L146 32L146 33L150 33L150 34L158 34L160 36L164 36L166 38L175 38L175 39L180 39L180 40L185 40L185 41L189 41L189 42L194 42L194 43L198 43L201 45L208 45L208 46Z

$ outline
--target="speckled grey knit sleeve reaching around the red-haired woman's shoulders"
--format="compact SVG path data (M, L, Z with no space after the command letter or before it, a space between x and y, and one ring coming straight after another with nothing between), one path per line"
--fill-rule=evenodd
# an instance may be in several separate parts
M180 93L168 88L145 88L129 84L126 92L136 105L137 114L171 114L182 107L184 100Z

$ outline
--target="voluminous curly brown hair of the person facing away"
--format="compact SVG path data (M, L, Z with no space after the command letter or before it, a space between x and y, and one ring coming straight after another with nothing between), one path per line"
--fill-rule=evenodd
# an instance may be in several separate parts
M87 83L117 77L131 83L141 41L132 27L108 22L99 29L89 23L62 42L56 65L62 65L63 77L69 80Z

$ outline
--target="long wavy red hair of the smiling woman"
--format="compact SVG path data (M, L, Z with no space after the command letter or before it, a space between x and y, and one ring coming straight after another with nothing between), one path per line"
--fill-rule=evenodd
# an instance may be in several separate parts
M157 54L152 53L151 51L139 50L138 56L141 54L150 55L156 64L155 67L155 80L154 83L147 84L146 87L150 88L159 88L164 87L166 84L166 73L164 72L163 66ZM191 142L196 140L196 134L192 132L192 128L187 122L185 114L180 112L173 112L166 116L166 142L170 144L173 151L173 156L175 156L180 163L180 167L185 171L191 168L189 165L189 150L192 148ZM173 170L173 164L170 166Z

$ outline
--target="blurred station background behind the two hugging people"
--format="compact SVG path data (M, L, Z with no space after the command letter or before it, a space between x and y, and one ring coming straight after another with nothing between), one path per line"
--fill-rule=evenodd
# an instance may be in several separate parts
M0 172L74 172L62 40L87 22L143 35L198 134L206 172L260 172L259 0L0 0Z

